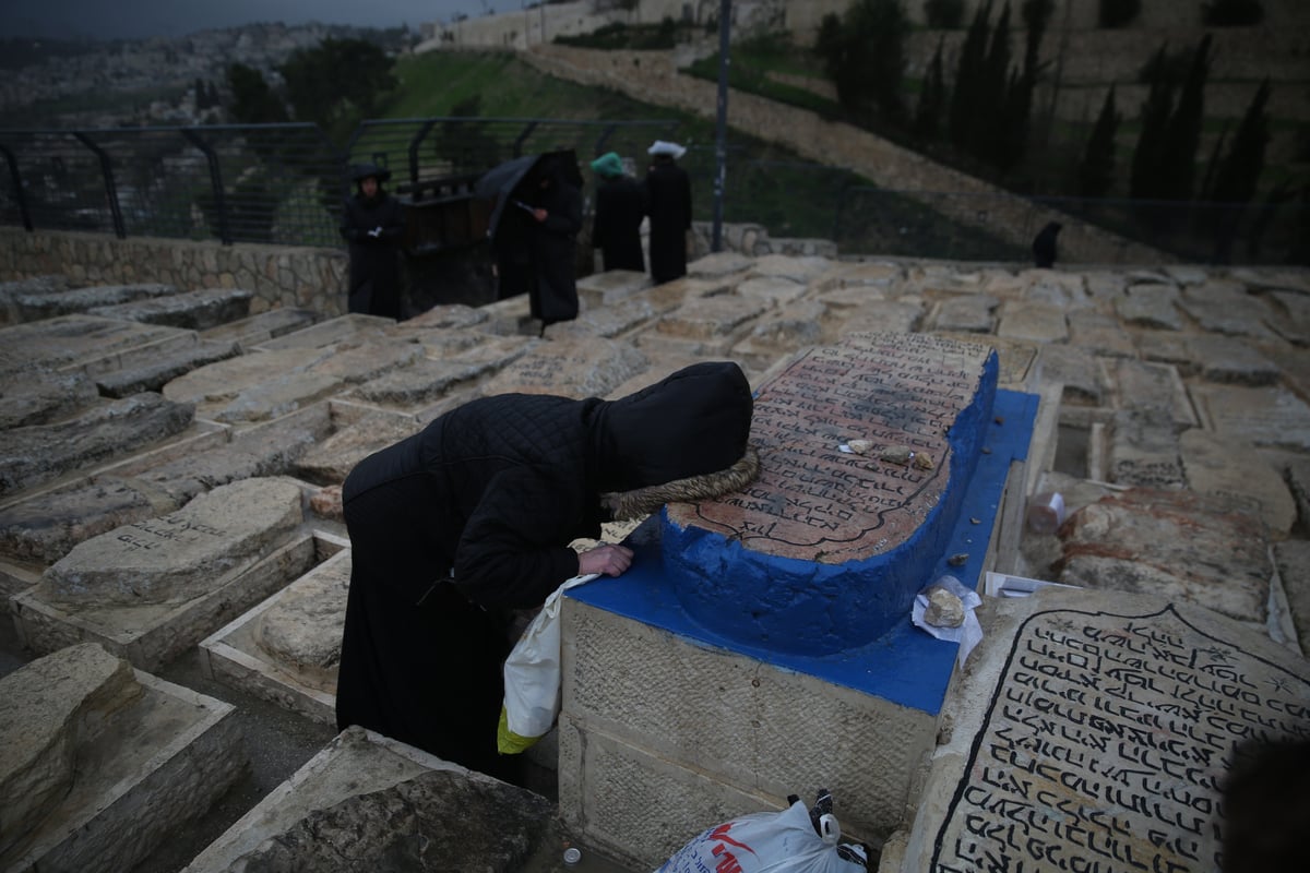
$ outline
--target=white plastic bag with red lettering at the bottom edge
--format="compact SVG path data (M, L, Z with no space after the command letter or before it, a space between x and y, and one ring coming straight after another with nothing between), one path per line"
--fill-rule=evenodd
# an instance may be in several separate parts
M837 819L824 815L820 836L799 800L781 813L752 813L715 825L680 848L655 873L867 873L862 848L837 846Z

